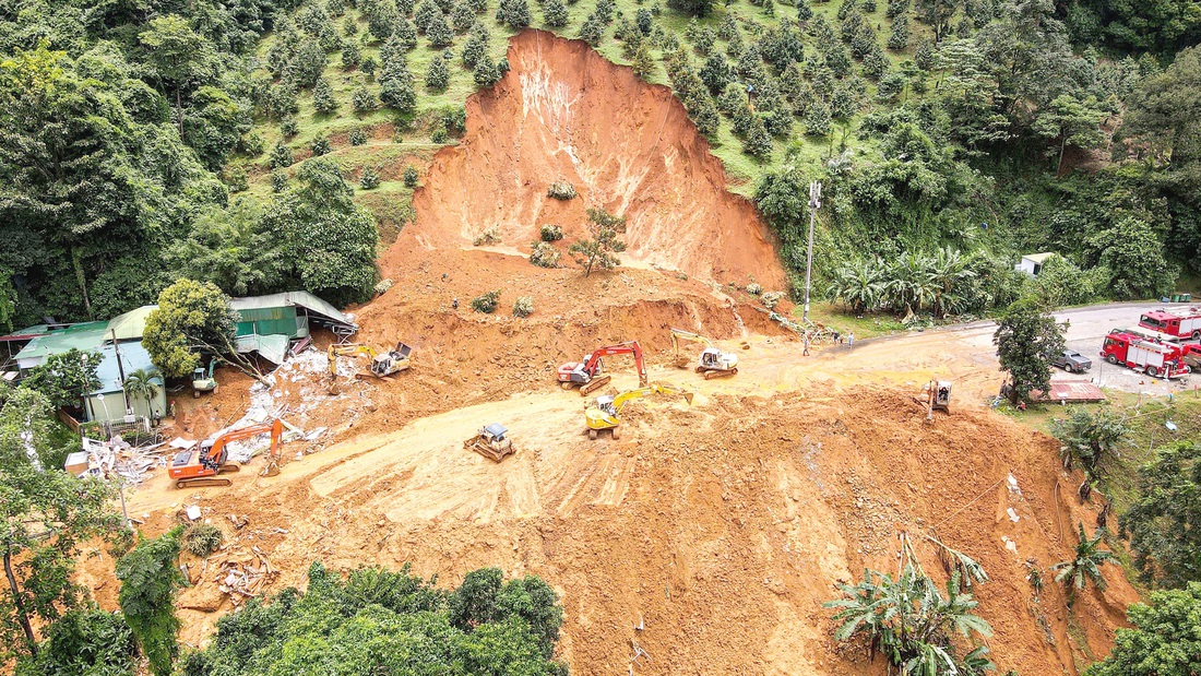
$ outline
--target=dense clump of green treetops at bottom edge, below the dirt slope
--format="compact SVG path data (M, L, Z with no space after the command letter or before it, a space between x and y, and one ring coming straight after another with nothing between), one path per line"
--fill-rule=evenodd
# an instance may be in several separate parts
M219 620L213 644L189 654L183 674L567 674L551 659L562 609L545 582L503 582L497 569L468 573L452 592L432 582L407 566L364 568L343 581L313 563L305 593L251 599Z

